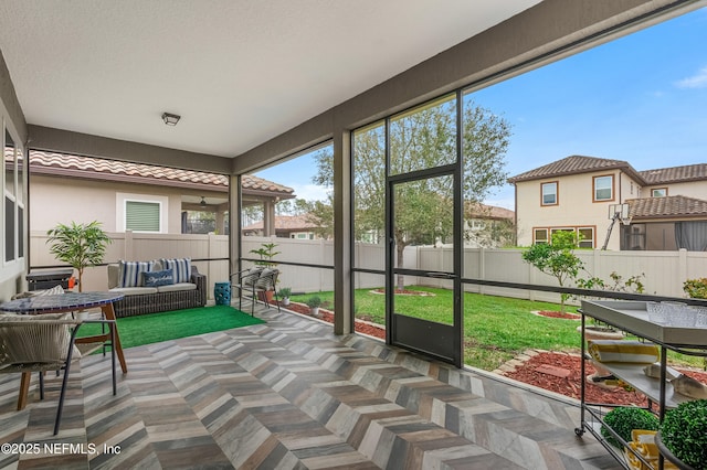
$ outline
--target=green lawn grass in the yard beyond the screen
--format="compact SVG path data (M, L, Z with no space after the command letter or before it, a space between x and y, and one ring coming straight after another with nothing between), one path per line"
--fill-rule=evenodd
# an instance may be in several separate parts
M429 287L411 287L434 293L431 297L395 297L395 311L410 317L442 323L452 322L452 291ZM317 292L323 301L334 306L334 292ZM294 296L292 300L304 302L310 295ZM356 317L386 324L386 298L372 289L355 291ZM326 308L326 307L325 307ZM563 320L531 314L538 310L559 310L560 306L507 297L464 293L464 362L486 371L497 368L528 349L579 352L580 333L577 320ZM567 311L577 312L568 306ZM703 366L699 357L669 353L674 364Z

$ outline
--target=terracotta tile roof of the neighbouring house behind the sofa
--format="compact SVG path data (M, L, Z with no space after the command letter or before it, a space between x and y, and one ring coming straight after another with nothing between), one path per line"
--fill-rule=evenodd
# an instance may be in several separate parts
M91 178L93 173L127 175L149 180L173 181L175 183L198 183L209 184L219 188L229 186L229 177L224 174L207 173L192 170L180 170L175 168L156 167L151 164L130 163L117 160L106 160L93 157L81 157L65 153L44 152L30 150L30 165L34 169L45 169L45 173L51 173L52 169L74 170L86 173ZM244 189L261 190L281 194L293 194L292 188L264 180L262 178L244 174L242 177Z

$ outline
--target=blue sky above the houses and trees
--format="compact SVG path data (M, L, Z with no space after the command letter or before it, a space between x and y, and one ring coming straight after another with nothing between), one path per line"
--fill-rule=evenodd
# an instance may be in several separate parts
M707 8L473 93L513 127L509 175L571 154L636 170L707 162ZM299 158L256 174L323 199ZM514 209L513 186L489 204Z

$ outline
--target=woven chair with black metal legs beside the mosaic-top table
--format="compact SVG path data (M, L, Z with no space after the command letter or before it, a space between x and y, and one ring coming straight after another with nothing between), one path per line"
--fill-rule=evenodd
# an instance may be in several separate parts
M109 343L82 342L76 338L78 329L84 323L102 323L108 328ZM46 371L64 371L62 388L54 420L54 435L59 432L62 419L66 384L72 361L82 355L110 345L113 368L113 395L117 393L115 351L113 340L115 334L114 320L73 320L70 314L14 316L0 314L0 374L22 373L20 385L20 400L23 403L30 386L30 373L39 372L40 399L44 399L44 373Z

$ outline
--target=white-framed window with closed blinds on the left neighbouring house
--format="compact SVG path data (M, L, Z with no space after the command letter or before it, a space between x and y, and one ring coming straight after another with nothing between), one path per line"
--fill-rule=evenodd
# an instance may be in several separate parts
M169 200L149 194L116 194L118 232L167 233Z

